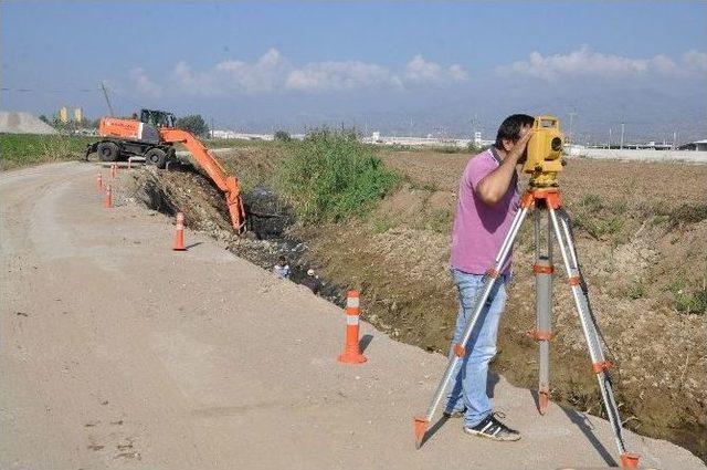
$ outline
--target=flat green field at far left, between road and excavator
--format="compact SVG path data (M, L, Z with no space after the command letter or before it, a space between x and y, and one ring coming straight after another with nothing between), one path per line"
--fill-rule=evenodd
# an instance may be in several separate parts
M83 157L95 137L0 134L0 169L7 170Z

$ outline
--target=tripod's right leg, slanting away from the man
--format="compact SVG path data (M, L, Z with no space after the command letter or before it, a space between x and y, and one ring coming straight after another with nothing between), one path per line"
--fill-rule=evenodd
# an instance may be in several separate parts
M623 441L621 418L619 416L619 409L611 388L611 376L609 375L609 367L611 364L604 357L597 325L593 322L593 316L589 306L589 299L581 288L577 251L574 249L568 222L562 219L560 226L556 210L552 208L548 208L548 210L555 229L555 238L560 248L560 253L562 254L564 271L569 278L572 296L574 297L574 305L577 306L577 313L579 314L582 332L584 333L584 340L587 341L587 346L589 348L589 355L592 359L592 369L597 374L597 380L599 382L599 389L604 401L604 408L614 431L616 447L621 453L621 466L623 468L636 468L639 464L639 456L626 452Z

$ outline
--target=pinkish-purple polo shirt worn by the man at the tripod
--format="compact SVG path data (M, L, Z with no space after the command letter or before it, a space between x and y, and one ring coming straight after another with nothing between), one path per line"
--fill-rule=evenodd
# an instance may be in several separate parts
M518 211L518 174L514 174L508 190L494 206L488 206L476 195L476 186L489 173L498 168L500 160L490 148L468 160L460 181L458 202L452 229L452 268L469 274L484 274L493 268L494 260L510 223ZM510 273L510 258L500 272Z

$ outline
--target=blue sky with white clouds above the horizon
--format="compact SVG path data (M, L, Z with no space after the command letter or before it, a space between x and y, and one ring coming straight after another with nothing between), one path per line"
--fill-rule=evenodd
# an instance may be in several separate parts
M2 108L201 113L217 127L707 134L707 2L0 3ZM30 90L20 92L18 88Z

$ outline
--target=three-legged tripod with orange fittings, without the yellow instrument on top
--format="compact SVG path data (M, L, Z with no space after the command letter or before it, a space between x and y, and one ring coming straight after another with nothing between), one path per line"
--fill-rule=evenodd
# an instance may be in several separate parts
M574 299L574 306L579 314L579 320L582 325L582 332L584 333L584 340L587 341L587 347L592 361L592 370L597 375L599 383L599 389L604 401L604 408L609 416L609 421L614 432L614 439L619 453L621 455L622 468L637 468L639 456L635 453L626 452L623 435L621 429L621 418L619 416L619 409L616 408L616 401L614 400L614 394L611 388L611 376L609 375L609 368L612 366L611 362L604 357L602 342L599 335L599 328L594 322L594 316L589 303L589 296L587 291L587 284L582 279L581 268L577 258L577 251L574 249L574 241L572 238L571 223L567 213L561 209L560 190L557 187L542 188L532 185L532 181L526 192L520 199L520 210L516 213L508 234L504 239L500 250L494 260L494 267L486 273L484 281L484 288L481 294L476 297L472 316L469 317L466 328L462 334L462 340L453 347L454 355L451 355L447 367L444 372L442 380L437 385L432 401L428 408L428 412L424 417L414 418L414 432L416 438L416 446L420 448L428 432L430 420L434 416L444 391L452 380L455 367L460 361L463 361L466 355L466 344L468 343L472 332L476 326L481 312L486 303L486 300L490 295L490 292L499 275L499 270L504 265L510 249L518 237L520 227L528 216L528 211L535 208L534 222L535 222L535 265L532 268L536 275L536 313L537 322L536 328L528 332L528 335L538 341L539 343L539 391L538 391L538 410L540 414L545 414L550 399L550 345L549 341L553 334L551 331L550 321L550 307L552 297L552 234L559 246L560 253L562 254L562 261L564 264L564 271L569 280L572 296ZM541 234L541 216L547 213L547 248L545 250L540 247Z

